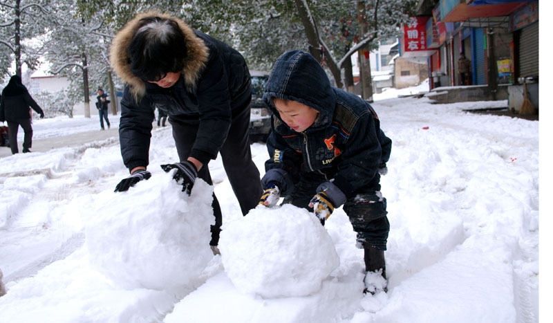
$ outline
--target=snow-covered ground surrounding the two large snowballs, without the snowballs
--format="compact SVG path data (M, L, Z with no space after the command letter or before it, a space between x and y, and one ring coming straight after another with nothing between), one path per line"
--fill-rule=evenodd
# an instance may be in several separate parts
M122 288L94 270L89 260L105 259L86 245L87 234L102 234L90 224L94 214L125 216L132 207L111 194L127 172L118 143L107 139L0 158L8 287L0 322L538 322L538 122L462 111L505 102L404 98L373 106L393 140L382 179L391 222L387 294L359 293L362 251L341 208L326 225L340 265L312 295L243 294L221 257L186 288ZM252 153L263 173L265 146L252 145ZM153 131L150 158L176 160L169 128ZM157 168L151 181L162 174ZM241 219L220 160L210 169L224 223ZM129 197L139 204L147 191Z

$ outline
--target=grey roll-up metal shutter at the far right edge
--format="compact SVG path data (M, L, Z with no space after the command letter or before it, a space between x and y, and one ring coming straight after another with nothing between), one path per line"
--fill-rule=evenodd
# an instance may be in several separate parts
M521 29L518 40L521 77L539 75L539 29L538 23Z

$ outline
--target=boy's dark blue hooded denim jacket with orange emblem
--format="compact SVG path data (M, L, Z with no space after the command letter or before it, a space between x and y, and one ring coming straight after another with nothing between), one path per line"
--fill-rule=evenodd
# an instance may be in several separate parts
M319 111L319 116L306 131L297 133L280 118L272 98L301 102ZM337 206L359 189L380 190L378 169L390 157L392 140L380 129L368 102L330 86L315 57L300 50L281 55L263 100L272 111L263 185L275 181L287 195L301 173L310 173L324 178L330 192L335 192L330 198Z

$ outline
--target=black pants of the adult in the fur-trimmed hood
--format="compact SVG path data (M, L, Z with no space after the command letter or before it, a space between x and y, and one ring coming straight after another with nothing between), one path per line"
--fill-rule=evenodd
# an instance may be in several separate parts
M173 138L178 152L178 158L181 161L187 160L196 140L198 133L198 120L185 122L169 118L173 127ZM221 158L223 167L229 178L230 185L234 191L242 214L256 207L261 198L261 178L259 169L252 160L250 151L250 140L248 138L248 127L250 126L250 109L244 109L237 116L232 116L232 124L227 135L227 139L221 147ZM198 177L202 178L209 185L213 185L209 168L204 165L198 172ZM213 194L213 212L215 216L215 225L212 225L212 246L217 246L219 242L219 233L223 223L221 206L215 194Z

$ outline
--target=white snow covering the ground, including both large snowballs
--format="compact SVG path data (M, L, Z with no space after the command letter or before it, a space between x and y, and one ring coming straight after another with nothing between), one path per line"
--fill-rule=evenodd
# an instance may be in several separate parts
M462 111L505 102L397 98L427 89L373 104L393 140L388 293L362 294L363 251L341 207L324 228L291 205L243 218L220 158L213 256L212 188L180 192L158 167L178 159L171 129L156 127L152 177L124 193L114 140L0 158L0 322L538 322L538 122ZM97 129L50 122L35 120L34 138ZM265 145L252 154L263 174Z

